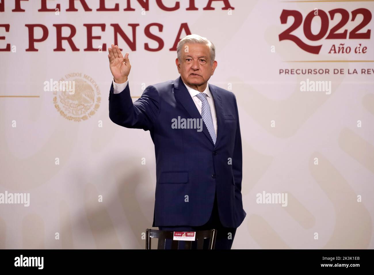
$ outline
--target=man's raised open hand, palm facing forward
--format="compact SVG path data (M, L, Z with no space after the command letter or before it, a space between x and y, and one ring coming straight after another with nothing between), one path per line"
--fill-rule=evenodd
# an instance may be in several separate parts
M113 74L114 82L126 82L131 69L129 53L127 52L125 57L123 57L118 46L113 44L111 48L108 48L108 52L109 67Z

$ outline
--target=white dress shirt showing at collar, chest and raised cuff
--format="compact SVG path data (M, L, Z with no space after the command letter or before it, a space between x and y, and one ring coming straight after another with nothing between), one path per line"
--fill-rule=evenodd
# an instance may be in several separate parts
M129 82L129 79L127 79L127 81L125 83L116 83L116 82L114 82L114 79L113 79L114 94L119 94L120 92L122 92L126 88L128 82ZM196 97L196 95L199 94L199 91L191 88L190 86L186 85L186 83L184 83L184 82L183 82L183 84L186 86L187 91L190 93L190 95L192 97L192 100L195 103L196 108L197 108L197 110L199 110L199 113L201 115L202 102L198 97ZM203 93L205 93L207 95L206 99L208 100L209 106L211 108L214 131L215 131L215 135L217 137L217 116L215 115L215 106L213 104L213 97L212 97L211 91L209 90L208 83L206 83L206 88L203 91Z

